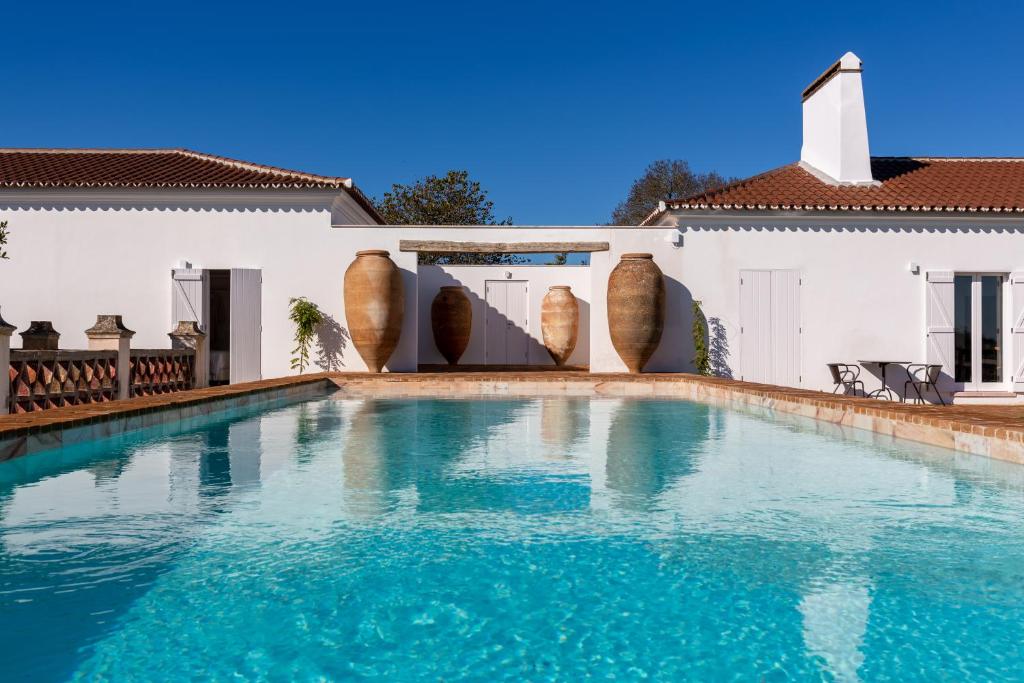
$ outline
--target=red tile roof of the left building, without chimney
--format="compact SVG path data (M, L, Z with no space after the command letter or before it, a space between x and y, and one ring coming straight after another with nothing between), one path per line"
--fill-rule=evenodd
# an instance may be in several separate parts
M190 150L0 148L0 188L341 189L379 220L350 178Z

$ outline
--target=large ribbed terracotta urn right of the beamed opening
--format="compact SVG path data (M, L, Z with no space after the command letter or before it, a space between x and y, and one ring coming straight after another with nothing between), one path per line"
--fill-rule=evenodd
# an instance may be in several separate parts
M665 276L650 254L623 254L608 275L611 345L631 373L657 349L665 329Z

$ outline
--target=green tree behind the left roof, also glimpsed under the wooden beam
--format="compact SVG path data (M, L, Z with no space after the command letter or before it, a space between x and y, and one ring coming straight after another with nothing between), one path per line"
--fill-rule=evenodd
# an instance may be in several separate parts
M469 171L428 175L413 184L395 183L377 201L389 225L511 225L495 219L495 203L487 190L469 177ZM420 252L420 263L520 263L514 254L441 254Z

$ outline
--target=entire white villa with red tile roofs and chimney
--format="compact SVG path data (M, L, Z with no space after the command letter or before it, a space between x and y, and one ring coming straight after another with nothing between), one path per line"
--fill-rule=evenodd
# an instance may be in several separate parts
M365 370L346 339L342 279L355 252L386 249L401 270L403 327L390 372L443 362L429 309L461 284L474 305L461 362L550 365L540 302L570 285L581 302L571 365L625 366L611 346L608 274L650 252L667 319L647 372L692 372L694 300L712 368L746 381L833 391L827 364L942 366L947 399L1024 395L1024 160L872 158L861 63L847 53L803 92L799 161L660 206L641 226L385 226L351 180L183 150L2 150L0 307L17 326L52 321L84 348L98 313L132 345L163 347L177 321L208 331L211 375L291 374L291 297L332 316L321 367ZM796 150L794 151L796 157ZM426 266L417 251L589 252L586 266ZM16 346L17 338L14 338ZM901 376L900 373L903 373Z

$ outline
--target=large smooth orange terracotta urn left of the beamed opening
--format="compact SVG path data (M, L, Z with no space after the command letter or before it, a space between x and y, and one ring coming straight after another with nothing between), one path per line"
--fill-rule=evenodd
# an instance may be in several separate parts
M345 270L345 317L367 370L379 373L401 335L406 294L401 273L381 249L355 252Z

